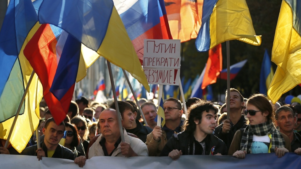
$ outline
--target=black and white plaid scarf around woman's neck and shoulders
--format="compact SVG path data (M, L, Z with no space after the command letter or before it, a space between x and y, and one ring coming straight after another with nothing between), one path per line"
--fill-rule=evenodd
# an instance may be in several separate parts
M242 135L240 148L242 151L246 150L248 154L252 153L251 145L253 142L253 134L256 136L266 136L272 134L272 147L270 152L275 152L275 147L284 147L284 139L280 132L277 131L272 120L265 123L248 125ZM270 148L270 147L268 147Z

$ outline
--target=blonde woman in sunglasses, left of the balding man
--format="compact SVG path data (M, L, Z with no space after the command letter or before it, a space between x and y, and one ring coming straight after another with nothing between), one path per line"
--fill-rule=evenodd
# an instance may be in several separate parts
M75 124L75 126L77 127L78 135L81 138L82 145L85 149L85 154L86 154L89 145L89 142L87 141L89 135L87 121L82 116L75 116L71 119L71 123Z

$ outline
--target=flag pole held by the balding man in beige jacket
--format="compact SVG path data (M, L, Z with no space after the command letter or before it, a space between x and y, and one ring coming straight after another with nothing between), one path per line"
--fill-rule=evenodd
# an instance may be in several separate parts
M113 79L112 67L111 67L111 63L108 60L107 60L107 64L108 64L111 85L112 85L112 92L113 92L113 96L114 96L114 103L115 103L116 112L117 112L121 141L124 142L123 127L122 127L122 123L121 123L121 114L119 112L119 107L118 107L118 100L117 100L117 96L116 96L116 89L115 89L115 84L114 84L114 79Z

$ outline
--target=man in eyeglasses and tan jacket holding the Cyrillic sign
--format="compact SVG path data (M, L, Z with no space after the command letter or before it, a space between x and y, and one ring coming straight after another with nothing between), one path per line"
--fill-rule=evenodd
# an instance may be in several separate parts
M163 104L165 125L161 128L156 126L153 131L147 135L145 144L149 156L160 156L160 153L166 142L172 135L181 132L184 121L181 120L183 110L182 103L175 98L168 98Z

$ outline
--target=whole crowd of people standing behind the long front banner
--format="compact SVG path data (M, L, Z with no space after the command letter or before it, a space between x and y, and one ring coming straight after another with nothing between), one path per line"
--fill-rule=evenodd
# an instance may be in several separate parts
M95 156L168 156L177 160L182 155L237 158L258 153L275 153L278 157L286 152L301 155L301 102L273 104L263 94L246 99L234 88L226 91L226 98L228 94L228 111L226 103L189 98L184 103L185 112L182 102L170 97L163 104L164 126L157 125L158 109L146 99L138 102L146 122L133 101L118 101L119 115L115 102L89 103L86 97L80 97L76 102L71 101L66 119L58 126L50 110L41 107L40 132L36 136L40 143L32 145L33 137L28 144L31 146L21 155L36 156L38 160L70 159L79 167ZM65 131L65 143L60 145ZM2 146L0 152L18 154L12 147Z

